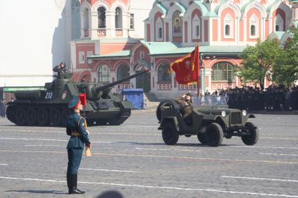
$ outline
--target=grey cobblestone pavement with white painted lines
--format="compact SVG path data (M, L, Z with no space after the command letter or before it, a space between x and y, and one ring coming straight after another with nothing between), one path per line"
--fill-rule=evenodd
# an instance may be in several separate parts
M255 146L180 137L166 146L155 111L133 111L120 126L90 127L93 156L83 160L78 187L66 195L65 128L19 127L0 119L0 197L298 197L298 116L262 115Z

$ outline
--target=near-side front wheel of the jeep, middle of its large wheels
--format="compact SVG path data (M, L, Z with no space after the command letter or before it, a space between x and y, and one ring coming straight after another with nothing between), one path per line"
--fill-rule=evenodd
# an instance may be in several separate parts
M218 123L211 123L206 128L205 138L209 146L219 146L223 139L222 127Z

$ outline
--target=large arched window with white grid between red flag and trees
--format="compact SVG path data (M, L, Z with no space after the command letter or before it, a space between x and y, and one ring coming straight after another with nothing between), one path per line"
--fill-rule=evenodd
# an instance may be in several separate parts
M212 80L235 81L234 66L229 62L218 62L212 66Z

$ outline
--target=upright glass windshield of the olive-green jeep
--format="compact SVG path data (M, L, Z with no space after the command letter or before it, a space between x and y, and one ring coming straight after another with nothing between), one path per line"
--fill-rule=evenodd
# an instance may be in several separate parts
M208 107L208 106L227 106L225 96L194 96L194 106Z

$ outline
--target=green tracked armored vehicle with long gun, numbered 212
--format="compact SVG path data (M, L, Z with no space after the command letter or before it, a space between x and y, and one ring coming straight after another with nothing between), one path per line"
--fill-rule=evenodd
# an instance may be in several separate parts
M75 83L71 73L59 73L53 82L45 83L44 89L15 91L13 102L8 103L7 118L17 125L65 126L66 117L71 113L67 105L73 96L86 94L84 116L90 125L120 125L131 114L134 107L129 101L122 101L111 87L128 79L147 73L125 77L110 84Z

